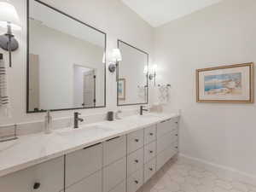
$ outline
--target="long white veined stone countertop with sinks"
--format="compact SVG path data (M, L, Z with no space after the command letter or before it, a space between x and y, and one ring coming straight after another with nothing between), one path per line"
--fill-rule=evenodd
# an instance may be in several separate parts
M41 132L0 143L0 177L178 116L177 113L132 115L81 125L79 129L63 128L49 135Z

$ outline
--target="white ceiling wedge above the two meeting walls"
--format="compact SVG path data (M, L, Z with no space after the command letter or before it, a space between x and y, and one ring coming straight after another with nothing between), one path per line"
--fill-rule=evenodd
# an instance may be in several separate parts
M222 0L121 0L151 26L177 20Z

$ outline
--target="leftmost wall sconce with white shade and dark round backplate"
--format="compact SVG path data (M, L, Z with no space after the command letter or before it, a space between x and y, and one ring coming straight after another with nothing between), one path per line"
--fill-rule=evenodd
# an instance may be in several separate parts
M9 67L12 67L11 52L19 48L12 30L21 30L20 19L13 5L0 2L0 26L7 29L7 32L0 36L0 47L9 51Z

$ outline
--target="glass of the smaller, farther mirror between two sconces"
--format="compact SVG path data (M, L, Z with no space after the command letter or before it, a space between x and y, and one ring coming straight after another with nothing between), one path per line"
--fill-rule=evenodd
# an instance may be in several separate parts
M148 53L118 40L122 61L118 65L118 106L148 103Z

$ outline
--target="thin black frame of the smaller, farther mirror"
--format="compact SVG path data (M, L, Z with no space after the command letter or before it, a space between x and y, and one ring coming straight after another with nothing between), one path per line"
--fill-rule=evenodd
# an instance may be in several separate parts
M142 50L142 49L138 49L137 47L131 45L131 44L128 44L120 39L118 39L118 42L117 42L117 45L118 45L118 48L119 48L119 44L125 44L133 49L137 49L138 51L142 52L143 54L147 55L147 66L148 66L148 61L149 61L149 54ZM120 50L121 51L121 50ZM119 94L118 94L118 89L119 89L119 62L117 64L117 91L116 91L116 97L117 97L117 106L132 106L132 105L147 105L148 104L148 73L145 75L146 78L147 78L147 101L146 102L137 102L137 103L125 103L125 104L119 104ZM143 73L143 72L142 72Z

